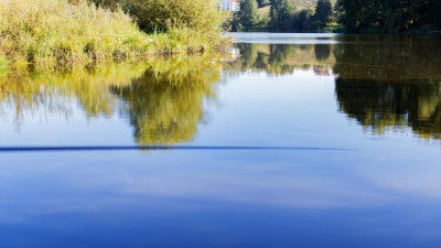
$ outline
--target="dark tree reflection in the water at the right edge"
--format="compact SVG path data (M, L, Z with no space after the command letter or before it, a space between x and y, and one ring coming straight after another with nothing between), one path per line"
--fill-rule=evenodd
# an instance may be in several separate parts
M365 41L366 44L355 43ZM343 36L334 51L340 110L376 133L411 127L441 138L438 36Z

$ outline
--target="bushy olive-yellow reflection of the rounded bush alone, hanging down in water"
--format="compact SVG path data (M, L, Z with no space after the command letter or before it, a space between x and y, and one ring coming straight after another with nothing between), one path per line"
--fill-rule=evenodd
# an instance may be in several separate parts
M111 88L123 100L122 112L135 128L139 144L172 144L191 141L197 126L207 121L204 103L216 97L216 69L170 76L153 68L130 85Z

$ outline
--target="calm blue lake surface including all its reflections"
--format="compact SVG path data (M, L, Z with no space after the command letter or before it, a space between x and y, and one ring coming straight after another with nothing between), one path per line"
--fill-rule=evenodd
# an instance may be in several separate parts
M0 77L1 247L440 247L441 37L234 34Z

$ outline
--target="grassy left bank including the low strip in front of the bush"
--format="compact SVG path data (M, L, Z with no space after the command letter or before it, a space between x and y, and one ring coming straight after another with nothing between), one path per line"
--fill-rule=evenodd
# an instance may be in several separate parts
M0 71L4 60L21 69L211 51L224 42L218 36L208 40L197 30L176 24L166 32L147 34L121 10L85 0L0 1Z

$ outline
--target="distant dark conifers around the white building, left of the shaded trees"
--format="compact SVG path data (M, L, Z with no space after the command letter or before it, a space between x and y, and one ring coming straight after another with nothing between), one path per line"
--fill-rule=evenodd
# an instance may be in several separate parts
M269 15L259 17L258 8L266 6L270 6ZM243 0L240 11L234 13L230 24L233 31L315 30L331 24L333 17L330 0L319 0L314 11L298 11L289 0Z

